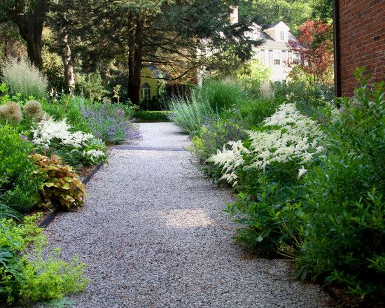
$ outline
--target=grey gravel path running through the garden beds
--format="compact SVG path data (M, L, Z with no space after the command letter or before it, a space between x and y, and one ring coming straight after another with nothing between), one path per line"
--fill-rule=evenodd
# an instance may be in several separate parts
M171 123L142 124L124 146L183 148ZM202 179L183 151L113 149L80 213L47 228L64 258L78 254L92 283L76 307L330 307L318 286L288 278L283 260L251 258L221 211L232 197Z

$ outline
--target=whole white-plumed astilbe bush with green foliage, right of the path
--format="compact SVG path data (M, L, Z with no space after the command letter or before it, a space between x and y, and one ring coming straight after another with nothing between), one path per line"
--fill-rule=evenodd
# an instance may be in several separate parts
M323 151L323 133L294 104L283 104L248 131L248 140L232 141L209 158L221 167L221 180L240 191L226 211L241 225L239 241L274 255L290 233L282 231L283 209L300 200L300 179Z

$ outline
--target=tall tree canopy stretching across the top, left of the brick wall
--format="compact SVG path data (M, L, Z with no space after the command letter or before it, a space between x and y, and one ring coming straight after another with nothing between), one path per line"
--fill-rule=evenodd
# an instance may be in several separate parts
M29 60L48 76L62 69L68 92L75 89L76 73L97 73L104 87L126 85L125 92L136 104L144 66L166 72L158 78L185 82L196 82L203 70L223 75L247 62L253 46L261 43L245 37L251 23L283 20L297 34L311 17L330 21L331 4L331 0L0 0L0 33L4 33L0 55L15 56L10 45L24 42ZM237 23L230 22L233 5L239 6ZM59 58L62 68L57 63L45 65L43 49L50 54L47 61Z

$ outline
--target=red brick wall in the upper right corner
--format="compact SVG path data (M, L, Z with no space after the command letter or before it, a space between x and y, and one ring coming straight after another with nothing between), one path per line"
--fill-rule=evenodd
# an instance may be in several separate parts
M353 94L353 71L365 66L374 80L385 76L385 0L339 1L340 85Z

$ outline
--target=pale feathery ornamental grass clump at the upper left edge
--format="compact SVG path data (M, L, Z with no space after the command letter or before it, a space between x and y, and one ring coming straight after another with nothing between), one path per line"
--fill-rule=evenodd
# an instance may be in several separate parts
M22 95L23 99L30 96L40 99L47 92L48 81L43 74L27 60L10 59L1 64L3 83L8 85L11 94Z

